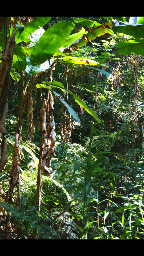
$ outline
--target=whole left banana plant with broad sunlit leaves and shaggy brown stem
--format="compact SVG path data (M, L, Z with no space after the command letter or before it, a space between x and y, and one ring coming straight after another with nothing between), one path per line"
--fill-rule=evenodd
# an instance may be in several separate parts
M113 22L106 22L105 24L101 24L97 27L95 27L93 30L90 31L85 31L82 29L79 33L70 35L71 31L74 29L74 23L73 22L68 22L68 21L60 21L59 23L51 26L49 29L47 29L43 35L39 38L39 40L36 42L36 44L30 44L29 47L20 47L18 43L20 42L30 42L30 34L33 34L34 32L38 30L39 27L42 27L45 25L51 17L37 17L35 21L31 21L28 23L25 27L19 26L16 24L15 27L15 48L14 48L14 53L13 53L13 62L12 62L12 67L13 69L21 71L21 80L22 80L22 90L20 88L20 83L18 85L19 87L19 92L21 96L21 105L20 105L20 111L19 111L19 116L18 116L18 123L17 123L17 129L16 129L16 141L14 145L14 155L19 154L19 146L20 146L20 141L21 141L21 124L22 124L22 115L23 112L26 109L26 105L28 102L28 96L32 92L32 87L29 86L30 84L30 79L31 76L37 72L38 68L41 67L44 63L47 62L47 60L50 62L50 58L53 55L57 55L57 52L61 52L59 49L63 47L67 47L67 45L74 44L72 49L78 49L79 47L83 46L85 43L87 43L90 40L93 40L94 38L103 35L107 32L113 33L112 30L109 29L112 28ZM106 26L108 29L106 29ZM6 26L8 28L8 26ZM109 31L110 30L110 31ZM21 34L19 34L19 31L21 31ZM5 33L6 32L6 33ZM0 46L1 48L4 47L5 45L5 36L4 34L12 35L13 33L13 27L11 27L9 30L4 31L3 33L3 27L1 30L1 35L0 35ZM86 37L87 35L87 37ZM82 37L81 37L82 36ZM78 43L77 40L78 39ZM75 45L76 41L76 45ZM83 44L84 43L84 44ZM63 54L62 54L63 55ZM28 59L29 57L29 59ZM69 59L69 57L68 57ZM65 61L68 59L65 59ZM70 60L69 60L70 61ZM85 59L85 58L72 58L72 61L74 63L77 62L77 64L83 63L83 64L88 64L88 65L100 65L98 62L94 61L93 59ZM64 62L64 59L63 59ZM65 62L66 63L66 62ZM27 69L27 66L29 69ZM46 67L50 68L50 65ZM23 71L28 70L27 73L27 79L23 79ZM12 77L17 81L17 77L15 76L13 70L11 72ZM41 74L41 72L39 73ZM37 75L38 77L38 75ZM37 78L36 77L36 78ZM35 79L36 79L35 78ZM35 80L33 81L33 83ZM88 113L90 113L98 122L100 122L100 119L97 117L97 115L94 113L93 110L90 110L86 103L81 101L79 97L71 93L69 90L65 89L62 84L58 84L57 82L54 81L50 82L49 85L52 87L57 87L60 88L62 91L66 91L67 93L70 93L73 95L75 98L75 101L81 105ZM43 88L45 88L46 85L40 85ZM29 88L30 87L30 88ZM37 87L38 88L38 87ZM51 88L46 86L46 89L51 91ZM60 97L59 94L55 92L55 95L59 99L61 99L61 102L68 108L69 112L71 115L73 115L74 118L76 118L77 121L79 121L79 118L77 114L75 113L74 110L71 109L70 106L67 105L67 103L64 101L62 97ZM31 97L30 97L31 98ZM79 121L80 122L80 121ZM19 175L19 168L20 168L20 161L21 161L21 156L19 154L19 162L15 162L13 159L13 164L12 164L12 170L13 172L11 173L11 180L10 180L10 191L9 191L9 203L12 201L13 198L13 192L14 192L14 184L17 183L17 205L19 204L21 200L21 195L20 195L20 175Z

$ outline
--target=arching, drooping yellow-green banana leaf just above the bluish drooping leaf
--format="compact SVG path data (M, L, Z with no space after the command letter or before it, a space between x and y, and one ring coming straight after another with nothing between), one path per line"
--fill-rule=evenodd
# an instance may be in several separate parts
M62 91L66 90L67 93L73 95L75 101L76 101L80 106L82 106L83 109L85 109L85 111L87 111L87 113L89 113L90 115L92 115L92 116L95 118L95 120L97 120L97 122L99 122L99 123L101 122L101 120L98 118L97 114L96 114L93 110L89 109L89 107L87 107L86 103L85 103L84 101L82 101L78 96L76 96L76 95L75 95L74 93L72 93L71 91L65 89L64 86L62 85L62 83L59 83L59 82L53 80L53 82L43 82L43 85L42 85L42 84L40 84L40 85L37 84L36 87L37 87L37 88L49 89L49 88L47 88L46 84L51 85L51 87L57 87L57 88L61 89Z

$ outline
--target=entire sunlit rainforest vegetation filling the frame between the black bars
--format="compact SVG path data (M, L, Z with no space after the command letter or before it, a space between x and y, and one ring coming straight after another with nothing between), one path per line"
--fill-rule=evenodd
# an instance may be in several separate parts
M143 239L144 17L0 17L0 239Z

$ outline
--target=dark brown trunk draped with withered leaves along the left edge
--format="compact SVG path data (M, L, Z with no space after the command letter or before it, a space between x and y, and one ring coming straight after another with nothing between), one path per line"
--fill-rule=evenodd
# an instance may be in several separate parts
M4 22L6 23L6 17ZM0 28L3 19L0 19ZM11 97L10 91L10 70L11 62L13 61L13 50L15 47L15 33L14 29L5 49L3 49L3 57L0 64L0 133L2 134L2 142L0 145L0 173L7 163L7 142L6 142L6 114L8 109L8 97ZM5 42L7 41L7 30L5 31Z

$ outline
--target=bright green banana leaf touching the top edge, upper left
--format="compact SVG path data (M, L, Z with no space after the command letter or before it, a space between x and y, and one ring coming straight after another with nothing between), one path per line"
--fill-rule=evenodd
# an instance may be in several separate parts
M35 21L31 21L30 23L28 23L16 42L20 43L22 41L25 41L25 39L29 37L30 34L34 33L36 30L39 29L39 26L44 26L50 19L51 17L37 17Z

